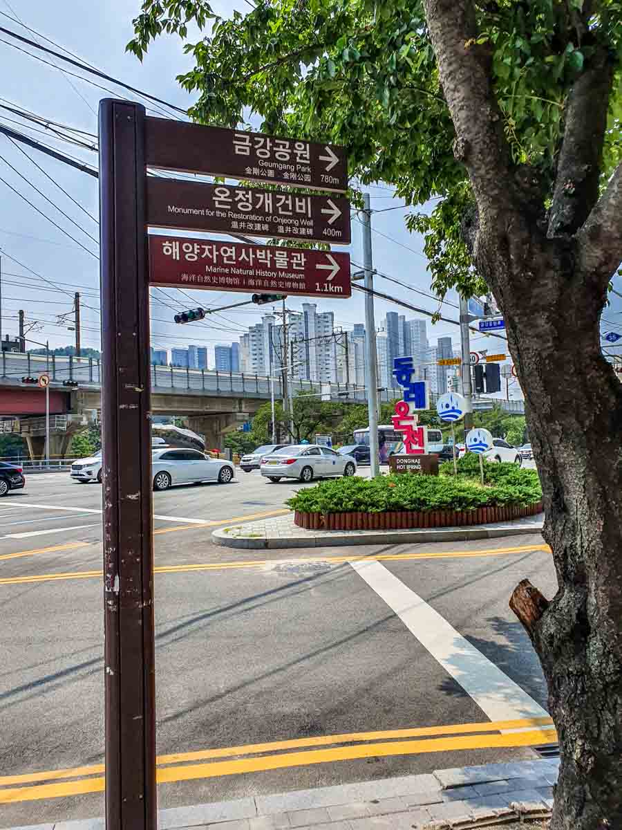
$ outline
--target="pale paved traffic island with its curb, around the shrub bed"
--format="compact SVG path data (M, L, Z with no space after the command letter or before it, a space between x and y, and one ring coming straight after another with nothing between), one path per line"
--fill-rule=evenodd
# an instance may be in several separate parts
M214 530L211 538L225 548L319 548L337 544L404 544L464 542L501 536L541 534L542 515L469 527L422 530L305 530L294 525L294 513Z

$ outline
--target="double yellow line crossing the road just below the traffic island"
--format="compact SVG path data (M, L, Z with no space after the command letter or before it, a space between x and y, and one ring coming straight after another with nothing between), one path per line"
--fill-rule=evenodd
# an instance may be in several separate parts
M197 525L193 525L197 527ZM526 544L518 548L493 548L488 550L451 550L440 553L423 554L376 554L376 555L350 555L350 556L307 556L290 559L235 559L228 562L206 562L198 564L180 565L158 565L154 568L156 574L183 574L187 571L202 570L228 570L239 568L261 568L267 564L283 564L284 562L327 562L329 564L342 564L344 562L377 562L377 561L411 561L415 559L471 559L474 557L502 556L507 554L518 554L527 550L549 550L547 544ZM61 574L30 574L28 576L8 577L0 579L0 585L18 585L35 582L54 582L64 579L94 579L101 577L101 571L75 571L73 573Z

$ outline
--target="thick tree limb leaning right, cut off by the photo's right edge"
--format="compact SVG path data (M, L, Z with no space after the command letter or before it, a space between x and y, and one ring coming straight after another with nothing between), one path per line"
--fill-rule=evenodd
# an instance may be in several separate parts
M586 276L605 288L622 261L622 163L576 235L577 255Z

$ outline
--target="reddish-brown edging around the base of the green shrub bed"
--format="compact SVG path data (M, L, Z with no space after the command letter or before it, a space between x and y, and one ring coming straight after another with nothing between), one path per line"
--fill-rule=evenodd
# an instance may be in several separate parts
M478 507L476 510L391 510L385 513L294 512L294 525L305 530L406 530L420 527L462 527L522 519L542 513L542 501L529 507Z

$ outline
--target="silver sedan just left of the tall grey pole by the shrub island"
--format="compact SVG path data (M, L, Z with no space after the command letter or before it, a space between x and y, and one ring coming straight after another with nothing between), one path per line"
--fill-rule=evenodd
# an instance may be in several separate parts
M297 478L313 481L324 476L353 476L357 462L352 456L342 455L319 444L298 444L282 447L261 459L260 472L270 481Z

